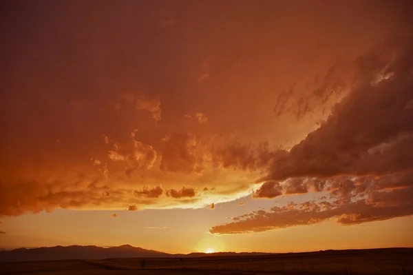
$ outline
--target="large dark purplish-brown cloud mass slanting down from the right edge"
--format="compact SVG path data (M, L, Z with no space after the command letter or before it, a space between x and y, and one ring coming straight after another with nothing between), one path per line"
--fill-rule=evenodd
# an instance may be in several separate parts
M275 152L258 181L264 182L262 190L253 193L260 197L281 182L284 194L328 192L331 201L260 210L211 227L212 233L261 232L330 218L350 225L413 214L408 198L413 194L413 112L405 108L413 100L413 40L383 43L354 67L357 78L326 121L289 151ZM313 96L324 99L318 92Z

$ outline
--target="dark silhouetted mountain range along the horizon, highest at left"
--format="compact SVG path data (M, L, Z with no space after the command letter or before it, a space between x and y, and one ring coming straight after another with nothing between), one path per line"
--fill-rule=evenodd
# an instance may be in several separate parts
M101 260L104 258L165 258L165 257L202 257L202 256L233 256L233 255L263 255L258 252L218 252L169 254L156 250L120 245L118 247L98 247L94 245L70 245L39 248L18 248L0 252L0 262L15 261L55 261L72 259Z

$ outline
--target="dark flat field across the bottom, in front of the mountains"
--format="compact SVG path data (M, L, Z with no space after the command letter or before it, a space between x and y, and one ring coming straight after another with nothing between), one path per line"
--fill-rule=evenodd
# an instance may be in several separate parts
M115 258L1 263L0 274L413 274L413 249L325 251L265 256Z

